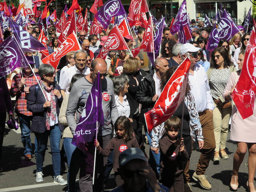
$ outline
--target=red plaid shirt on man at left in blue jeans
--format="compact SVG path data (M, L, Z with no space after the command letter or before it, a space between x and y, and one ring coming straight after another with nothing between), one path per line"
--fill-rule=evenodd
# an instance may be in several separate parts
M28 77L24 75L23 71L23 78L26 79L26 87L31 87L32 85L37 84L36 78L34 77L33 73L29 75ZM38 80L40 80L40 76L36 74L36 77ZM27 94L24 92L24 87L21 88L21 90L18 90L18 84L21 80L21 73L16 74L13 77L10 94L12 97L15 96L16 93L16 101L15 101L15 111L22 113L23 115L32 115L32 112L29 112L27 110Z

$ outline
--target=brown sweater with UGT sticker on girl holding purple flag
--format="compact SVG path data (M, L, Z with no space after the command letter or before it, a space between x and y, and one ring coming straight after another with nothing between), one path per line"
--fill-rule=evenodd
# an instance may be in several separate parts
M110 153L114 150L113 170L114 172L117 172L117 168L119 168L119 154L124 150L132 147L140 148L135 137L133 137L128 142L125 142L123 138L118 139L117 137L113 137L106 148L102 149L99 147L98 153L102 154L103 156L109 156Z

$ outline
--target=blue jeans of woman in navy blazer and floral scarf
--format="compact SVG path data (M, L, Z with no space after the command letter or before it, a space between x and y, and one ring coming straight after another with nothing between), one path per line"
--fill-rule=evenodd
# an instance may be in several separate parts
M48 137L50 137L51 146L51 157L54 177L60 175L60 150L59 142L61 139L61 130L58 124L51 126L50 130L46 130L44 133L35 133L37 140L37 151L36 151L36 172L43 171L44 156L47 147Z

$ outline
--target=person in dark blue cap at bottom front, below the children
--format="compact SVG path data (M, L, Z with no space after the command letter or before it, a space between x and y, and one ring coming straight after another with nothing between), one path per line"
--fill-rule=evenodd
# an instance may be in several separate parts
M139 148L128 148L119 155L118 173L124 180L124 184L114 192L167 192L169 189L156 180L156 175L148 165L148 160Z

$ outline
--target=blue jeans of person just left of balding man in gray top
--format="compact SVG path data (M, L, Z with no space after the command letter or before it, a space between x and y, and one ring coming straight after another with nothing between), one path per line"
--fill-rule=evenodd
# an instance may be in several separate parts
M77 173L79 171L79 148L71 143L72 138L64 138L63 146L67 155L68 161L68 172L67 172L67 181L69 192L75 190L75 182Z

